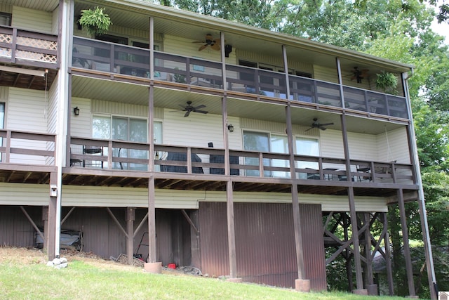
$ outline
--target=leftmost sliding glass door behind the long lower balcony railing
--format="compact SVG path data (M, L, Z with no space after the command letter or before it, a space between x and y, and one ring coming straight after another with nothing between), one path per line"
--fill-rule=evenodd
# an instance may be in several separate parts
M122 141L133 141L147 143L148 126L147 119L118 117L118 116L93 116L92 122L93 138L105 138ZM162 123L154 122L154 142L162 142ZM106 152L107 150L105 150ZM114 157L131 157L148 159L147 150L135 150L126 148L112 149ZM134 164L114 162L112 169L147 170L146 164Z

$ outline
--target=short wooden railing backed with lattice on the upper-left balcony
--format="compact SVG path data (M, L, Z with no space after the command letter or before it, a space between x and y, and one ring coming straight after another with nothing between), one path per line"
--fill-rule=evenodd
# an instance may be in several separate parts
M58 36L0 26L0 61L58 67Z

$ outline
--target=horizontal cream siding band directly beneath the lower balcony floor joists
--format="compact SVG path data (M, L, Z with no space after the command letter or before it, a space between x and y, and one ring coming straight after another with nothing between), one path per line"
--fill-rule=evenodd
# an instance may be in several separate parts
M300 194L300 203L321 204L323 211L349 211L345 196ZM226 192L156 190L156 208L198 209L199 202L226 202ZM288 193L234 193L234 202L291 203ZM1 205L48 205L48 185L0 183ZM148 207L145 188L62 187L64 207ZM356 211L387 212L382 197L356 197Z

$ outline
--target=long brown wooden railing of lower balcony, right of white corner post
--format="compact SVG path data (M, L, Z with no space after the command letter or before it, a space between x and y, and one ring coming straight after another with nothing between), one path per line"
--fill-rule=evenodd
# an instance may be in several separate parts
M149 144L126 141L71 138L70 165L95 169L148 171ZM215 148L154 145L156 172L225 175L225 150ZM229 175L246 178L290 179L290 156L282 153L246 150L229 151ZM347 171L344 159L295 155L296 179L354 181L354 183L413 184L413 166L396 162L351 159ZM348 179L349 178L349 179Z

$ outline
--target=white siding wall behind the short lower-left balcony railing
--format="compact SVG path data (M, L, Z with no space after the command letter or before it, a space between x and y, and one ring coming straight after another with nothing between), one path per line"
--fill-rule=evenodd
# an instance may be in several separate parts
M47 132L47 100L44 91L10 88L6 114L7 129L18 131ZM11 147L46 150L46 142L11 141ZM11 154L12 163L44 164L43 157Z

